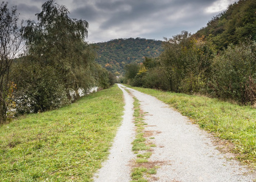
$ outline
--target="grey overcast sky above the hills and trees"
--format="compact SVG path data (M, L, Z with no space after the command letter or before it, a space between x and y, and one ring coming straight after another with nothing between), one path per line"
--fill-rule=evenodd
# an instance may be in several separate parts
M36 20L46 0L9 0L20 19ZM65 5L71 18L89 23L88 42L118 38L163 40L187 30L195 33L213 16L238 0L55 0Z

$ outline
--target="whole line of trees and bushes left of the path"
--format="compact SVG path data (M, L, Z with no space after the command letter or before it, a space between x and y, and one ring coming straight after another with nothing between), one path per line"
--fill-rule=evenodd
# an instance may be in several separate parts
M41 8L37 22L18 27L16 7L1 4L0 124L14 113L56 109L79 98L79 90L88 93L115 83L85 42L88 22L69 18L68 8L54 0Z

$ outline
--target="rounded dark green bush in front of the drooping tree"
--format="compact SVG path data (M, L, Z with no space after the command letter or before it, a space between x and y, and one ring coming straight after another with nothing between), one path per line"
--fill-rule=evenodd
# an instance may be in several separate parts
M14 96L18 114L43 112L68 103L65 87L52 67L42 69L35 62L18 64L13 79L17 85Z

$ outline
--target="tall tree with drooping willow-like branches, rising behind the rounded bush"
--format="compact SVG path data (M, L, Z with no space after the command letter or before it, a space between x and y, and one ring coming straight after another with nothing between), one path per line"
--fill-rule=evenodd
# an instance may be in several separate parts
M47 1L36 14L38 22L27 21L23 37L27 55L34 57L30 61L38 62L41 67L53 67L71 100L71 90L78 93L79 88L86 90L95 84L91 76L95 53L85 42L88 22L68 15L64 5Z

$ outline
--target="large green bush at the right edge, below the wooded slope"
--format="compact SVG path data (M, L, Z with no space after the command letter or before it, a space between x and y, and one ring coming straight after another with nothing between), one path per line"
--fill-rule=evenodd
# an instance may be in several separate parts
M213 61L213 96L243 104L256 101L256 42L229 45Z

